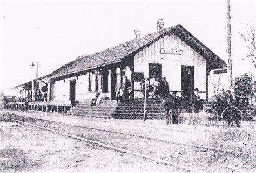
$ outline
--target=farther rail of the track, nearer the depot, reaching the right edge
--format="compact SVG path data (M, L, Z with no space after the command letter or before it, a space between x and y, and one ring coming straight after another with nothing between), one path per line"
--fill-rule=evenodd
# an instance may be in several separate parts
M13 115L23 117L23 121L24 121L24 118L27 117L27 116L21 116L21 115L17 115L17 114L13 114ZM43 120L43 121L50 121L50 122L58 122L60 124L65 124L65 125L70 125L70 126L75 126L75 127L80 127L80 128L87 128L87 129L93 129L93 130L96 130L96 131L103 131L103 132L109 132L109 133L130 135L130 136L135 136L135 137L138 137L138 138L143 138L143 139L152 140L152 141L160 141L160 142L164 142L164 143L171 143L171 144L174 144L174 145L201 148L201 149L206 149L206 150L212 150L212 151L215 151L215 152L223 152L223 153L234 154L234 155L238 155L238 156L245 155L245 156L256 157L255 154L251 154L251 153L236 152L236 151L233 151L233 150L226 150L226 149L222 149L222 148L209 147L209 146L203 146L203 145L194 145L194 144L191 144L191 143L183 143L183 142L171 141L171 140L160 139L160 138L151 138L151 137L146 136L146 135L139 135L139 134L130 133L130 132L111 131L111 130L103 129L103 128L96 128L96 127L90 127L90 126L81 126L81 125L76 125L76 124L67 124L65 122L45 120L45 119L39 119L39 118L33 118L33 119L38 119L38 120Z

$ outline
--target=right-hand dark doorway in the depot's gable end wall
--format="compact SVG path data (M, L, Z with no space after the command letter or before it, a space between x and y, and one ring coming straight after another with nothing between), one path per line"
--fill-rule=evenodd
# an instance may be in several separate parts
M194 92L194 66L181 66L181 96Z

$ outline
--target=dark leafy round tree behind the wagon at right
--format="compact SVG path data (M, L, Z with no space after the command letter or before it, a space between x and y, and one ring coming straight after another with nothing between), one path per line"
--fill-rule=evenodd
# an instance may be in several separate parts
M235 78L234 83L235 95L239 97L251 97L253 96L253 76L245 73Z

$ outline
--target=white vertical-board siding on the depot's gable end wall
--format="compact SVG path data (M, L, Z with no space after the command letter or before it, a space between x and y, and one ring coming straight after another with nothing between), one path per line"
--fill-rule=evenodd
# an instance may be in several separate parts
M160 48L181 49L182 55L162 54ZM134 71L149 76L149 63L163 64L163 77L169 82L170 90L181 91L181 65L194 66L195 88L206 92L206 60L185 44L176 35L169 34L145 47L134 56ZM139 82L134 83L137 90ZM206 93L200 93L206 98Z

